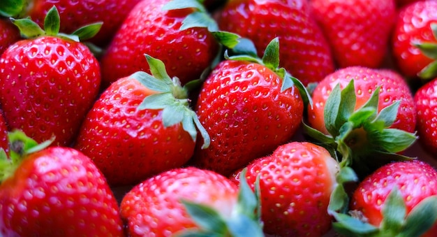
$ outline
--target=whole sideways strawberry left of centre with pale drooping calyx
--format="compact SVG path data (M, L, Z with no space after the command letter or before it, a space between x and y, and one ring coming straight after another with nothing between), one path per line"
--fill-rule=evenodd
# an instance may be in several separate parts
M137 72L105 89L85 117L74 146L96 163L111 185L135 185L182 166L193 155L199 123L188 107L187 89L168 76L161 60L147 55L147 62L152 75ZM205 129L198 129L207 137Z

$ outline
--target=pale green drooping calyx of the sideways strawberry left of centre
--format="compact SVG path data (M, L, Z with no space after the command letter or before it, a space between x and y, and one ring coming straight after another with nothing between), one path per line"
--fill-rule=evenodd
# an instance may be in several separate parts
M170 127L182 123L182 127L190 134L193 141L196 141L198 131L203 138L202 148L209 147L210 138L206 129L200 124L195 112L190 108L188 98L188 89L181 86L178 78L170 78L165 70L164 63L159 60L145 55L151 71L145 73L138 71L131 75L131 78L138 80L145 87L158 92L147 96L138 110L144 109L162 109L163 125Z

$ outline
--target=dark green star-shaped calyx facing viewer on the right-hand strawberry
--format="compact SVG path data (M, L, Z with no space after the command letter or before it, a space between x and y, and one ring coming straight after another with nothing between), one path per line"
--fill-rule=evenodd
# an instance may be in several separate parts
M399 101L378 113L379 90L378 87L369 101L355 110L354 81L343 90L338 84L325 104L325 127L329 135L304 124L307 135L338 154L341 166L352 166L357 173L369 173L390 161L413 159L397 153L412 145L417 136L390 128L396 120Z

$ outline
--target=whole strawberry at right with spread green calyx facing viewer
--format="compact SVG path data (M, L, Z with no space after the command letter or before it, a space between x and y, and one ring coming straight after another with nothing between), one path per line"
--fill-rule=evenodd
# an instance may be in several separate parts
M415 104L394 71L351 66L323 79L313 90L306 134L337 150L342 165L363 176L393 159L416 140Z

